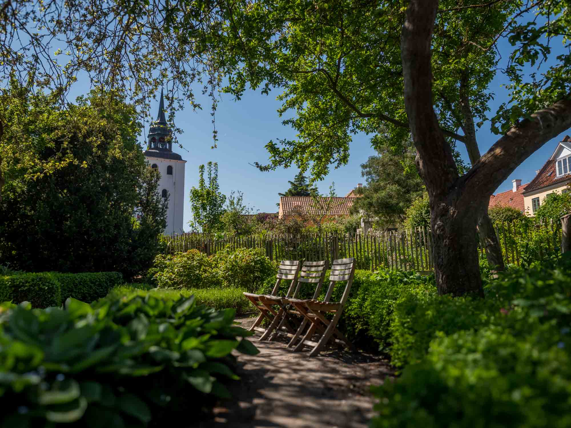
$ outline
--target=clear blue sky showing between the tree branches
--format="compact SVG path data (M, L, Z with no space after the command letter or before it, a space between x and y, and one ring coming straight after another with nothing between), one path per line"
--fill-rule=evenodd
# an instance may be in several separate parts
M563 52L560 42L553 41L552 58ZM500 53L504 56L502 66L506 61L506 56L512 51L509 43L502 39L498 45ZM544 64L548 67L551 63ZM526 72L531 70L526 67ZM490 113L495 113L502 102L508 100L508 91L503 84L508 83L505 76L498 72L496 78L490 84L490 91L495 97L490 103ZM165 88L166 89L166 88ZM179 111L175 116L177 126L182 128L184 134L179 135L179 142L184 149L176 148L175 151L187 160L185 192L188 195L190 188L198 182L198 167L208 161L218 162L220 190L228 195L232 190L244 192L244 201L253 205L260 212L276 212L276 203L279 202L278 192L287 190L288 180L298 172L297 168L277 169L271 172L260 172L251 163L259 161L265 163L268 154L264 145L271 139L295 138L295 131L282 125L283 118L279 118L276 110L281 103L276 100L279 92L270 92L270 95L262 95L260 92L246 91L242 99L235 102L231 96L222 95L222 100L216 110L216 129L218 130L218 148L211 149L212 146L212 123L210 115L210 102L206 97L197 98L204 106L203 111L192 112L190 109ZM158 101L155 103L155 111L158 108ZM498 187L497 192L503 192L512 188L513 179L521 179L521 183L528 183L536 175L545 161L552 154L565 134L564 132L553 140L546 143L540 150L524 161L516 170ZM484 154L499 136L492 134L489 122L477 131L480 152ZM359 134L354 136L351 144L349 163L339 169L331 169L329 175L323 181L317 183L321 193L327 193L329 185L335 182L337 195L344 196L357 183L363 183L360 165L368 156L374 155L369 139L371 135ZM458 150L468 163L468 155L463 146L459 143ZM190 202L186 201L184 207L184 224L191 219Z

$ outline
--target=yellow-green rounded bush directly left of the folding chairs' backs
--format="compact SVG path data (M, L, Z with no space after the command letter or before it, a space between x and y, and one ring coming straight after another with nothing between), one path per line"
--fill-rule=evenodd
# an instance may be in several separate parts
M254 292L268 277L275 276L278 265L272 262L262 249L230 247L214 256L220 278L225 286L241 286Z

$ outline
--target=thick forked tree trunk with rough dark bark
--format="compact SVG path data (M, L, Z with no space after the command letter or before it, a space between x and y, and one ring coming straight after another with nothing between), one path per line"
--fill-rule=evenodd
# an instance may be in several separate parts
M437 0L411 0L401 35L404 103L416 165L430 197L433 258L440 294L483 296L476 227L489 195L534 151L571 127L562 99L510 128L459 176L432 104L431 41Z

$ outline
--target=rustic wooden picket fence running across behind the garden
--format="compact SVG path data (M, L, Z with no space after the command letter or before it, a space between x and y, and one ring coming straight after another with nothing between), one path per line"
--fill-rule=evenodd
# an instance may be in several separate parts
M496 225L505 263L521 265L530 260L543 260L559 251L561 227L558 224L514 222ZM229 246L260 248L271 260L319 261L354 257L357 269L433 270L432 232L428 227L400 231L369 231L342 236L329 233L274 234L236 236L183 233L165 237L164 252L172 254L197 249L212 255ZM478 251L484 255L480 244Z

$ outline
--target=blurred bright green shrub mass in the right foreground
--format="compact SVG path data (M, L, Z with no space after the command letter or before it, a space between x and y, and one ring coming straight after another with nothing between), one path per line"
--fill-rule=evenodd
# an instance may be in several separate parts
M408 360L420 362L375 390L372 426L571 426L569 259L501 274L486 285L487 302L455 300L415 301L409 319L420 330ZM416 341L428 330L440 331L420 359Z

